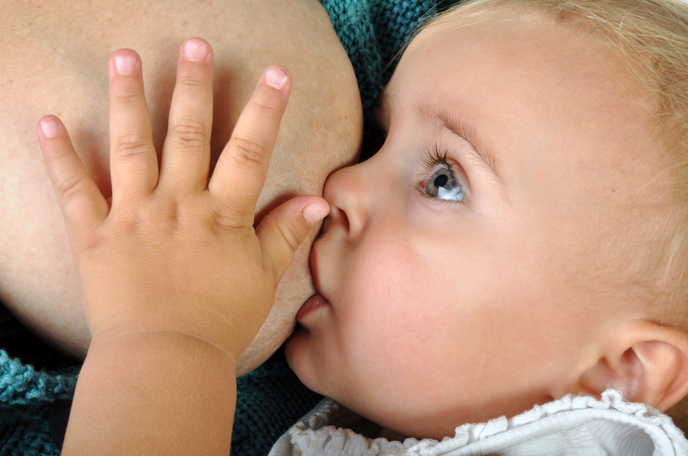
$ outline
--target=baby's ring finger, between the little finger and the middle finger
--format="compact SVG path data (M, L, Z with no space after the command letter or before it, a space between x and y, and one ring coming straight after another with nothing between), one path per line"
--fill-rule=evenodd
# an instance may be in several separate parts
M131 49L112 54L110 75L110 174L113 204L150 194L158 184L158 156L143 92L141 60Z

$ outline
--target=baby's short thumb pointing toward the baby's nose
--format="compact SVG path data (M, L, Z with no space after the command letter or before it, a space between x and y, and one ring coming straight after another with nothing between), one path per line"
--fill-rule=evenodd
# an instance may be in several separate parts
M319 196L297 196L279 205L256 228L263 252L263 264L275 275L275 284L287 270L294 252L308 231L330 213L327 201Z

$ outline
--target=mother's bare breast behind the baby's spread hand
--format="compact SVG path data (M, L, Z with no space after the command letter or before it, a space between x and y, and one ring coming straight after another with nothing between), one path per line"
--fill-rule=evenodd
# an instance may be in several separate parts
M188 4L187 4L188 3ZM83 317L65 223L35 135L45 113L60 117L104 196L110 196L107 62L136 49L160 154L175 84L178 49L189 36L213 46L211 170L255 81L269 65L292 75L257 220L297 194L321 195L334 170L354 163L361 102L350 62L316 0L255 2L0 1L0 300L34 333L83 358ZM275 306L239 359L237 374L264 361L286 339L294 315L315 293L310 232L283 276Z

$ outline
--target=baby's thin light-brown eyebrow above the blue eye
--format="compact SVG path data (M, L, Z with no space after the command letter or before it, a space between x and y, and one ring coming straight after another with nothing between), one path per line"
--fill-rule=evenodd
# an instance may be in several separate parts
M440 109L438 106L426 105L418 103L415 106L416 114L423 122L428 124L440 124L440 128L449 130L455 136L469 141L472 148L469 148L471 155L479 161L485 168L490 170L495 175L499 183L504 185L504 179L499 176L495 161L495 155L492 149L488 147L484 141L480 140L480 135L475 131L475 126L470 122L461 121L456 118L451 112Z

